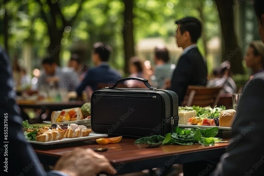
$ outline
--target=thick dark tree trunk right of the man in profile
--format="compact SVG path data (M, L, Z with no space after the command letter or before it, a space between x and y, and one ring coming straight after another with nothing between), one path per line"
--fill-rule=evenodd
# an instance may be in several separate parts
M224 37L223 61L230 61L234 74L243 74L242 53L238 47L237 37L234 32L234 10L232 0L215 0L221 21L221 29ZM238 10L238 9L237 9Z

